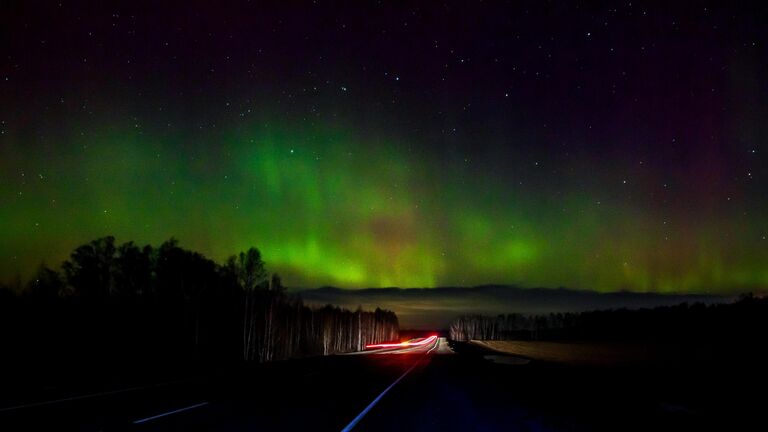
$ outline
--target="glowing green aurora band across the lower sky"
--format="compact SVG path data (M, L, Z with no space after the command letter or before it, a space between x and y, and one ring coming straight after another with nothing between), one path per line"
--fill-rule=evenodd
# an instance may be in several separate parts
M174 236L219 262L257 246L293 287L737 292L768 283L759 224L719 210L677 212L660 226L654 206L620 198L605 178L572 181L590 178L587 164L531 188L385 133L246 123L195 135L69 130L63 141L40 138L34 154L26 138L6 135L0 276L29 277L111 234L142 244Z

